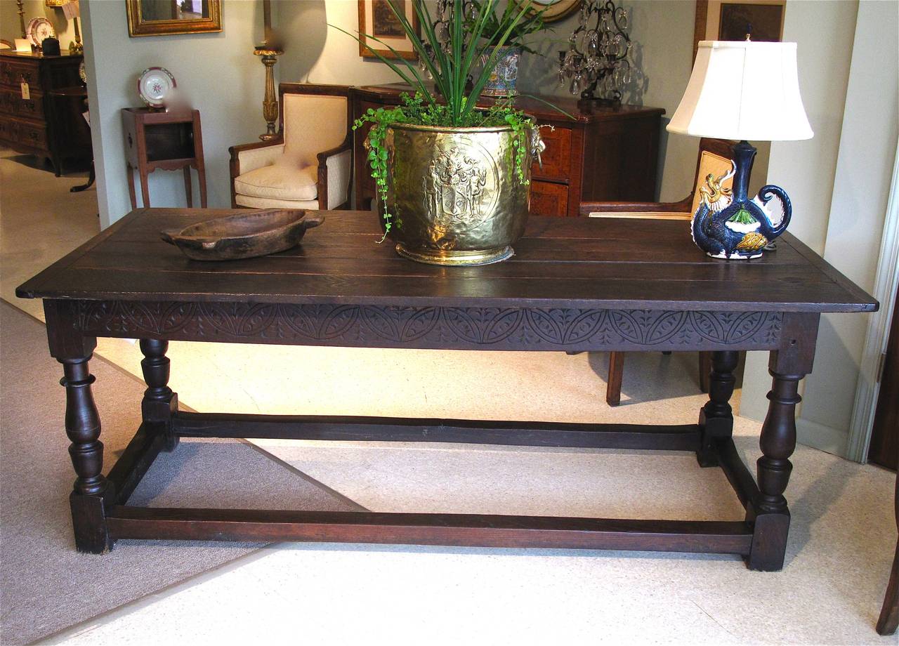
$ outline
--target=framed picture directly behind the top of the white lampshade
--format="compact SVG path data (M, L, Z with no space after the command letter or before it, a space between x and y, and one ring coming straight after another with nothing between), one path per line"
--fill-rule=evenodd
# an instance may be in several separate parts
M696 0L693 59L699 40L779 42L783 38L786 0Z

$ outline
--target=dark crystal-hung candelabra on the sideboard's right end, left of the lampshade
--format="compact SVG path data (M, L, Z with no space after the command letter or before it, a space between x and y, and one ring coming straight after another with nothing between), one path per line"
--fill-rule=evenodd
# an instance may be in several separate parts
M582 99L621 102L622 89L637 74L627 30L624 8L612 0L583 0L568 50L559 52L559 82Z

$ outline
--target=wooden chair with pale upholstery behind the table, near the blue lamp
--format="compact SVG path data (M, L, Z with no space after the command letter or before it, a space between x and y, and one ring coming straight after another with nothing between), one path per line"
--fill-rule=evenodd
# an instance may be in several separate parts
M582 202L581 216L587 217L630 217L666 220L690 220L699 207L699 188L709 174L721 177L731 170L732 141L703 138L699 140L699 156L696 163L696 178L690 195L679 202ZM732 180L724 182L731 187ZM699 353L699 388L708 393L708 376L711 373L710 352ZM606 386L606 402L617 406L621 402L621 381L624 376L624 352L611 352L609 357L609 383Z

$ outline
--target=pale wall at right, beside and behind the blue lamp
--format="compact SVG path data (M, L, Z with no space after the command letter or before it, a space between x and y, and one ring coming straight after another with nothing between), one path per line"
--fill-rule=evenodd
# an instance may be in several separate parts
M899 137L899 5L790 2L784 40L797 40L814 138L771 146L770 180L794 204L790 231L873 288ZM867 315L824 315L797 429L806 444L845 455ZM741 414L767 409L763 357L747 360Z

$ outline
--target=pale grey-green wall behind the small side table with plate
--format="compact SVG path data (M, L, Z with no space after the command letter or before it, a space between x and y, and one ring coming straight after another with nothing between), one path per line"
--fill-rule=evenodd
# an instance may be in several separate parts
M120 111L142 105L137 79L149 66L172 72L178 88L200 111L209 207L229 207L227 148L254 141L265 131L264 69L253 55L254 45L263 39L262 4L225 0L220 33L141 38L129 38L124 2L82 0L81 5L102 226L131 209ZM185 205L181 171L151 173L149 184L152 206Z

